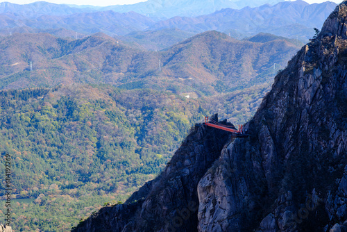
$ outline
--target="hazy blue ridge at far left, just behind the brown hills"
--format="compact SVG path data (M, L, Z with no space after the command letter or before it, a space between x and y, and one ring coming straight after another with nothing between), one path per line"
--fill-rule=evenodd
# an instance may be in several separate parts
M76 13L72 15L40 15L39 17L17 18L8 13L0 15L1 29L6 33L11 28L33 28L35 30L49 30L65 28L87 35L105 32L110 35L125 35L132 31L143 31L153 25L155 21L149 17L134 12L115 13L112 10L94 13Z

